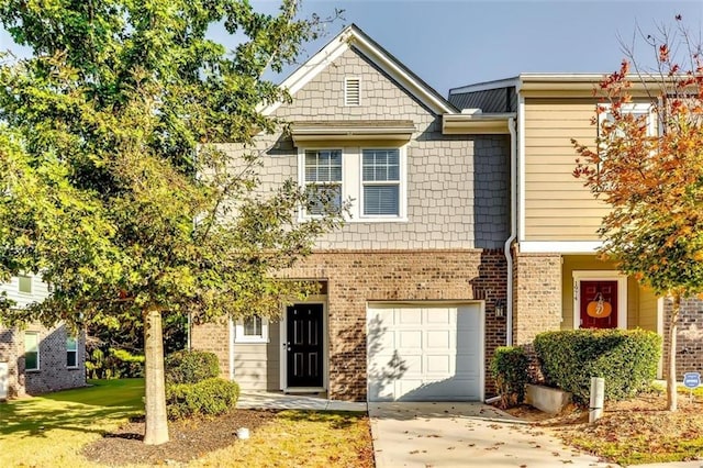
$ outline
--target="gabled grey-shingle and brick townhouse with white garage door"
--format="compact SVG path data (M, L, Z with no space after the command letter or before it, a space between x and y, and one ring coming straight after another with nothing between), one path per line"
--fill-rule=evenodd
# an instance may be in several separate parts
M244 390L491 394L488 363L511 320L514 115L460 113L354 25L282 86L292 102L264 112L291 135L259 135L265 188L339 183L350 219L284 272L319 281L319 297L282 308L280 322L197 326L192 347L216 353Z

